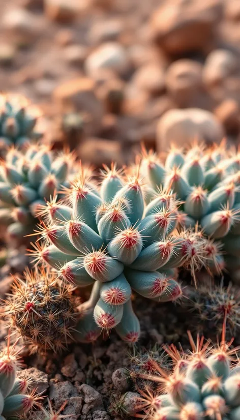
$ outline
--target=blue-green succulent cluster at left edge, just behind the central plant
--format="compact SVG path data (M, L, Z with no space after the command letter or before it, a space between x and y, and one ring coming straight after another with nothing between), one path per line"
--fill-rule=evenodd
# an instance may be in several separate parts
M28 146L24 152L10 148L0 166L0 220L8 224L10 239L21 242L33 232L36 216L46 206L50 197L67 182L74 172L74 156L63 153L57 156L46 146ZM49 212L54 214L54 200Z

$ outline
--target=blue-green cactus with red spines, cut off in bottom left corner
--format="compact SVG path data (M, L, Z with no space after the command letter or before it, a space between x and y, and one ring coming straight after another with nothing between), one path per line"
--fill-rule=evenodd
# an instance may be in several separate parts
M19 350L16 345L10 345L10 333L6 350L0 353L0 418L10 420L13 417L25 415L34 406L41 407L39 394L28 393L29 381L17 378Z

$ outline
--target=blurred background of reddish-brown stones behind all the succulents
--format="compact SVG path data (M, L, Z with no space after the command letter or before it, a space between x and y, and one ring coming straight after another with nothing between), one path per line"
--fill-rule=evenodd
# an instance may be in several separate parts
M238 143L239 0L1 0L0 90L84 162Z

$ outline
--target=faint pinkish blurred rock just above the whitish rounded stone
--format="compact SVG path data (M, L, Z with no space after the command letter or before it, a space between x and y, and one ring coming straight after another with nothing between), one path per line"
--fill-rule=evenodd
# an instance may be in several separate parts
M88 41L92 45L102 44L103 42L117 41L124 30L124 21L122 19L108 19L96 22L91 26Z

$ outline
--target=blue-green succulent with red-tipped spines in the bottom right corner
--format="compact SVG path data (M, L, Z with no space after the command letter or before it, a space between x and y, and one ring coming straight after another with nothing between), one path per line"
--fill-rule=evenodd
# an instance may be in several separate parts
M165 370L156 364L149 379L159 384L158 391L141 392L139 416L149 420L239 420L240 370L231 348L233 340L212 346L204 337L194 343L189 333L191 352L165 347L173 367Z

